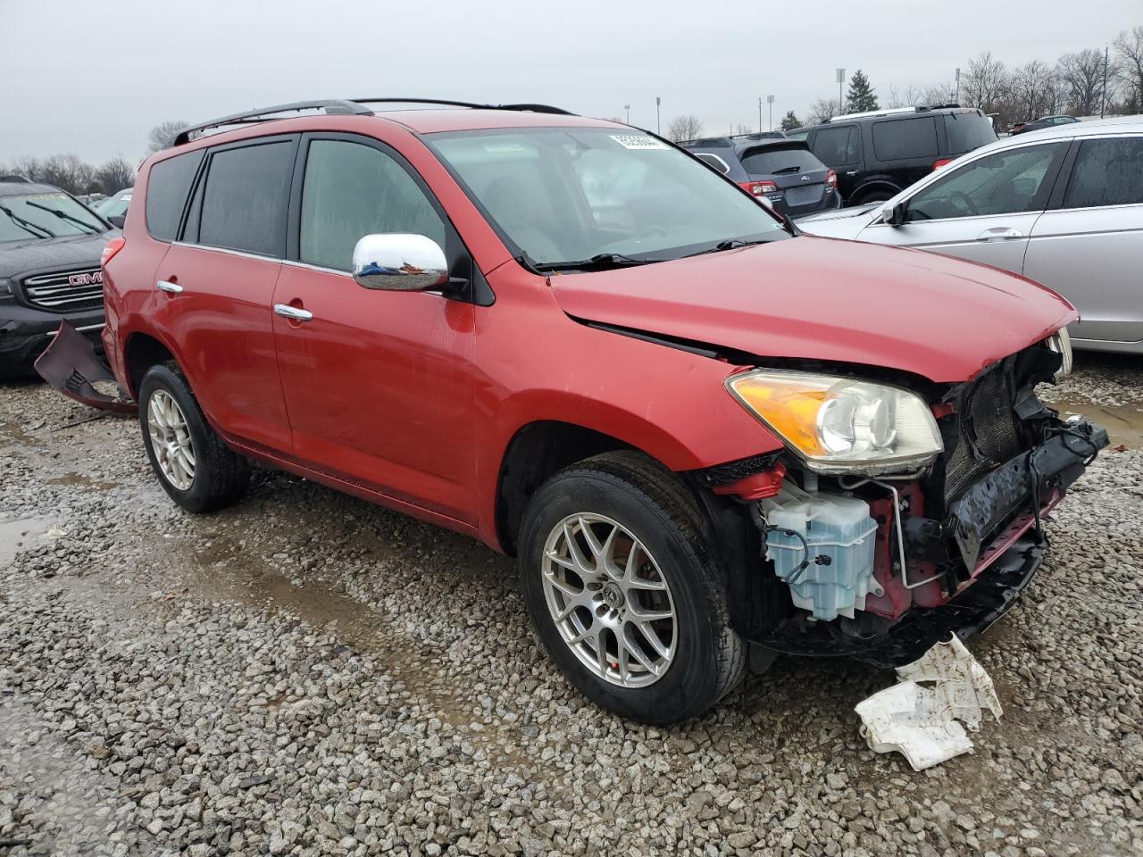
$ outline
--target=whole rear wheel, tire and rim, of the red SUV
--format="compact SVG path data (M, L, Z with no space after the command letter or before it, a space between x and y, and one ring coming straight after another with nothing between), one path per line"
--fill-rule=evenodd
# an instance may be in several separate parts
M207 423L178 368L159 363L147 369L139 383L138 401L143 446L168 496L187 512L198 513L216 512L238 502L250 481L250 465ZM167 438L166 443L160 435Z

